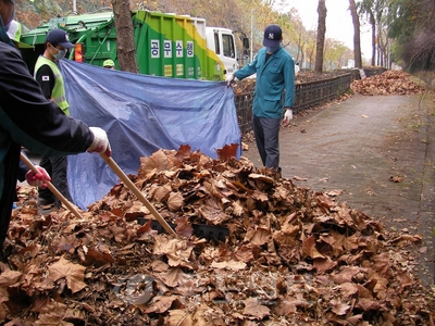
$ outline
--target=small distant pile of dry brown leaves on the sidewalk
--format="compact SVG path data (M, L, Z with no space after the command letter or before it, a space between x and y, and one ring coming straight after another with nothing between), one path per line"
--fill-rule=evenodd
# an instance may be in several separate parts
M361 95L413 95L422 93L424 89L419 87L410 78L410 74L400 71L386 71L381 75L353 80L350 88Z

